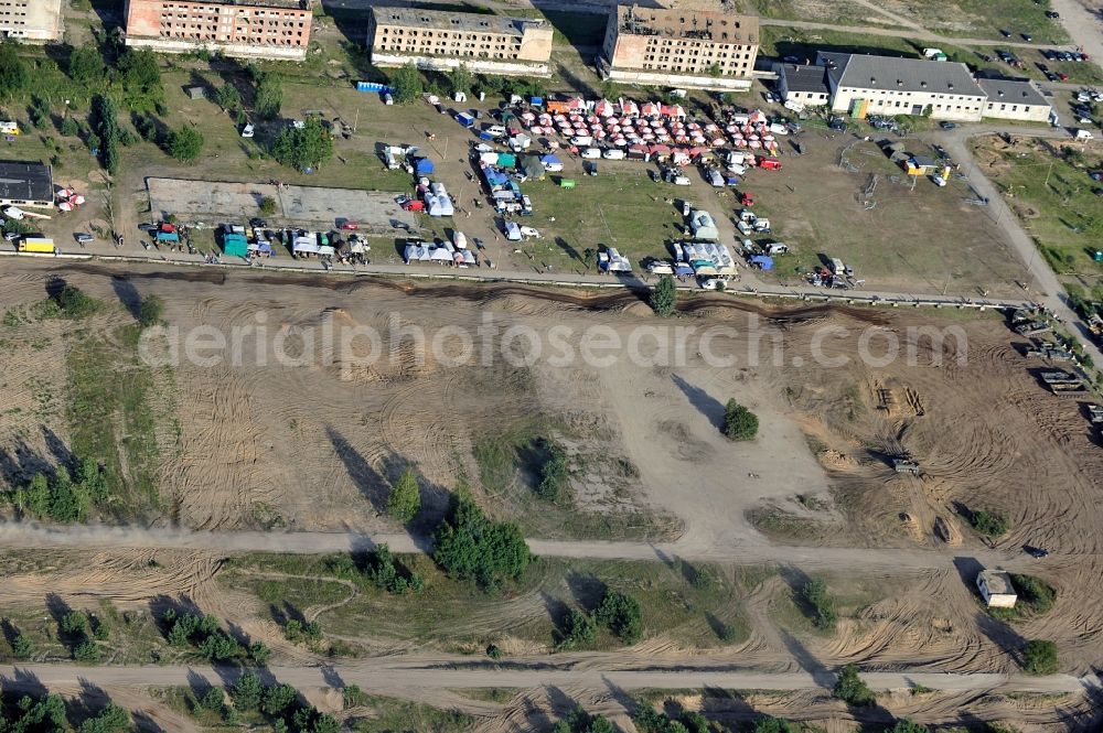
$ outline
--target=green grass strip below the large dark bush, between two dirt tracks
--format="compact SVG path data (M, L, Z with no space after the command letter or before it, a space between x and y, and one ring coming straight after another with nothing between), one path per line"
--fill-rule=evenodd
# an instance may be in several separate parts
M303 595L311 586L272 574L303 575L325 583L333 578L333 568L342 567L343 561L334 562L340 557L237 556L226 562L219 582L263 592L267 600L285 599L292 605L302 604L298 605L302 610L320 603ZM347 603L318 616L326 632L357 636L371 629L376 638L414 640L480 654L503 636L550 647L563 618L558 611L534 615L529 612L532 603L544 606L546 602L542 599L561 599L565 607L577 606L592 613L606 591L612 589L639 600L643 638L663 635L708 648L721 643L717 629L722 626L731 627L724 644L738 644L748 637L749 624L741 599L760 581L754 569L537 558L506 593L488 597L470 583L452 581L425 556L400 556L400 560L425 578L419 594L393 595L365 583ZM711 580L694 582L697 574ZM618 646L620 643L604 628L588 645L596 649Z

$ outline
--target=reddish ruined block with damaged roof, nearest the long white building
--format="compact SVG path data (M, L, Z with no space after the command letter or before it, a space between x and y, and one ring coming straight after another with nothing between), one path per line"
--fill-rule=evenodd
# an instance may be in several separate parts
M758 44L753 15L620 6L609 15L599 63L615 82L747 89Z

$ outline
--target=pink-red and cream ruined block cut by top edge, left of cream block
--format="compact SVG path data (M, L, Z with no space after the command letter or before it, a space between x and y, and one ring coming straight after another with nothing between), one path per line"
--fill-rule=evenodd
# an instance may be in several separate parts
M127 0L127 45L302 61L313 0Z

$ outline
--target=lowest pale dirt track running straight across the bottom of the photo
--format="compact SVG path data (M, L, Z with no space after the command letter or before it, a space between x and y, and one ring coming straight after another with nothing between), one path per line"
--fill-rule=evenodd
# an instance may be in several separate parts
M631 664L649 664L639 658ZM540 688L583 687L588 689L700 689L724 690L808 690L829 688L835 677L831 672L769 673L717 666L679 665L677 668L632 669L617 664L617 655L601 659L578 658L575 664L556 658L548 662L473 661L470 657L390 657L365 661L339 662L323 667L272 667L266 670L272 678L300 689L340 688L358 685L374 693L409 697L411 691L426 688ZM233 682L239 668L190 666L147 667L79 667L76 665L21 665L0 667L4 689L35 682L51 688L92 683L99 687L175 687L195 686L206 681L221 686ZM1097 688L1095 677L1077 678L1068 675L1025 677L1020 675L956 675L944 672L868 672L863 679L875 690L909 689L923 685L943 692L993 691L1060 693Z

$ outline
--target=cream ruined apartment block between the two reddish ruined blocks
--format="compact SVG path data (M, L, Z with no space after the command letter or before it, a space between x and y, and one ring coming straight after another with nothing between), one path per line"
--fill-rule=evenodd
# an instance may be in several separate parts
M464 64L484 74L546 76L552 25L544 20L414 8L373 8L372 63L447 71Z

